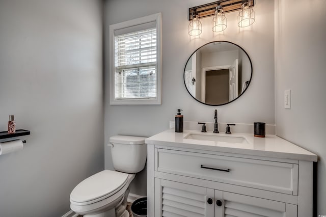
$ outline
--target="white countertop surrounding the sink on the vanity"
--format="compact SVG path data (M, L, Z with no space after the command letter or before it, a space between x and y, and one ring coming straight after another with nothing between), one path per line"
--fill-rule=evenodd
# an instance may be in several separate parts
M285 159L317 161L317 155L307 151L293 143L290 143L276 135L266 135L265 138L254 137L249 133L232 133L225 134L220 132L219 135L239 136L245 138L249 144L226 143L216 141L204 141L184 139L186 135L194 132L196 134L215 134L212 132L201 132L198 130L184 130L184 132L175 132L174 129L169 129L153 135L145 140L146 144L154 144L159 146L169 146L188 149L199 149L205 151L228 152L235 154L248 154L265 157L276 157Z

